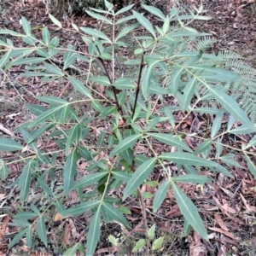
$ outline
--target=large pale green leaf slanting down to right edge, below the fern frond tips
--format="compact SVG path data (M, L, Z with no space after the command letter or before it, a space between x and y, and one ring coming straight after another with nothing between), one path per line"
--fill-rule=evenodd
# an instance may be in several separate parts
M236 119L241 121L243 125L247 125L247 128L255 131L255 127L253 123L248 119L247 113L244 113L239 104L235 101L235 99L231 96L226 95L222 90L213 89L212 87L208 87L212 96L225 108L229 113L231 113Z

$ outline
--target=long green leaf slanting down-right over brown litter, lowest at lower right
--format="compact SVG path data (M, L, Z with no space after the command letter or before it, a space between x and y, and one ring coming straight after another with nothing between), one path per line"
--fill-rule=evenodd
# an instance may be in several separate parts
M194 228L194 230L198 233L199 236L208 241L207 230L193 202L173 182L172 188L174 191L175 199L177 201L177 205L180 211L182 212L184 218L187 219L189 224Z

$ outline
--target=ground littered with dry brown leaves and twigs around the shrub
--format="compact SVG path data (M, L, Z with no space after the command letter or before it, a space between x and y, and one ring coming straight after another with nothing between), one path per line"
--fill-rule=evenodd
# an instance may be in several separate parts
M187 4L184 3L178 4ZM190 1L197 5L196 1ZM192 26L200 31L212 32L214 37L218 39L218 43L212 45L212 50L218 51L223 49L232 49L237 53L247 57L247 60L253 67L256 67L255 57L255 36L256 36L256 3L247 4L247 1L203 1L207 14L214 16L213 20L209 21L195 21ZM167 4L167 3L166 3ZM3 11L3 9L2 9ZM43 24L51 27L51 22L48 17L44 16L44 4L22 4L9 3L9 9L0 18L1 28L20 30L20 16L24 15L31 21L35 33L40 33L38 26ZM58 17L61 20L61 17ZM89 17L79 16L73 17L75 24L80 26L97 26L95 20ZM75 34L69 30L71 23L66 16L64 22L65 32L56 32L56 36L61 37L62 42L77 44L79 50L84 49L84 45L78 41ZM81 69L86 67L79 67ZM32 96L38 95L65 95L73 96L73 91L69 87L55 83L41 83L38 80L30 80L21 78L19 76L21 70L19 68L12 68L6 74L1 75L0 85L0 123L9 131L14 131L15 127L22 124L25 120L32 117L24 107L24 103L35 103ZM5 76L6 75L6 76ZM61 88L60 88L61 86ZM168 99L166 99L168 102ZM182 118L182 117L180 117ZM192 119L190 116L186 119L183 128L190 129L190 132L200 131L200 125L195 125L193 128ZM193 130L196 129L196 130ZM0 131L0 136L2 136ZM187 142L192 148L193 141ZM236 143L241 141L228 141L231 146L236 148ZM157 147L157 145L156 145ZM1 155L0 155L1 156ZM9 155L5 155L9 157ZM240 160L242 166L246 163L236 155L237 160ZM176 170L173 169L173 172ZM179 235L183 230L183 219L181 213L177 208L176 202L173 200L172 191L166 196L166 200L157 214L153 214L152 201L150 199L145 201L147 208L148 225L157 224L158 236L165 236L165 249L159 254L169 253L170 255L256 255L256 224L255 221L255 181L249 172L241 171L234 168L233 176L235 179L230 179L219 174L214 177L213 183L208 183L203 190L196 187L195 184L182 183L180 187L195 201L196 206L200 209L201 217L204 219L208 228L210 242L202 241L195 233L190 234L186 238L181 238ZM15 192L9 191L6 188L7 184L11 182L20 173L19 166L13 166L12 172L7 181L2 181L1 192L2 198L0 202L4 202L3 206L11 204L15 198ZM205 172L205 175L210 173ZM211 174L212 175L212 174ZM161 178L160 172L154 172L152 180L159 181ZM143 192L155 193L156 189L152 186L143 186ZM117 195L118 196L118 195ZM68 199L66 204L73 203L77 196ZM8 199L8 201L5 201ZM126 201L126 206L131 209L131 215L126 217L131 222L132 230L121 230L119 224L109 224L102 227L102 240L99 243L96 255L107 255L108 253L116 253L116 255L132 255L131 248L137 238L143 237L145 231L143 226L142 210L138 201ZM0 210L1 211L1 210ZM7 216L2 218L2 232L4 224L11 222ZM86 223L90 216L82 216L80 218L68 219L62 222L58 228L52 228L49 223L49 241L52 241L51 247L48 251L58 252L58 247L68 247L81 239L86 230ZM6 250L6 245L9 242L6 234L15 234L15 227L8 226L5 228L3 234L2 247ZM124 247L113 247L107 242L109 234L115 236L125 236ZM9 235L10 236L10 235ZM0 237L1 239L1 237ZM42 244L34 248L30 255L38 255L36 250L42 250ZM13 252L20 251L21 253L28 253L29 249L25 243L20 243L13 249ZM47 251L47 250L44 250ZM60 251L59 251L60 252ZM18 253L17 253L18 254ZM51 253L49 253L51 254ZM143 255L145 252L138 253ZM16 254L15 254L16 255ZM43 254L41 254L43 255ZM44 253L44 255L47 255Z

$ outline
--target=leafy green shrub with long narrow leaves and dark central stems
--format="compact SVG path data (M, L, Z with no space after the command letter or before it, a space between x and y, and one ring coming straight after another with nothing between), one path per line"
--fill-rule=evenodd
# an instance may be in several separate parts
M88 53L79 52L71 44L67 48L59 46L60 39L51 38L47 27L42 30L42 39L36 38L25 18L22 18L25 34L0 30L0 34L22 38L27 44L26 48L16 48L10 39L6 42L1 40L1 68L7 70L16 65L25 65L27 71L21 75L41 77L43 81L63 79L83 95L83 99L73 102L61 97L38 96L37 99L49 104L49 107L27 105L36 118L17 128L23 141L5 137L0 139L0 150L3 152L20 151L19 155L15 154L16 160L1 160L2 178L8 177L9 165L24 162L20 177L14 184L18 184L20 189L20 202L30 197L30 204L20 206L15 213L14 221L20 226L20 232L9 247L23 236L26 236L27 246L32 247L35 232L47 245L47 212L55 207L62 217L93 212L85 246L86 255L93 255L100 239L102 221L108 223L115 220L129 227L122 213L124 207L120 207L121 201L109 196L108 191L119 189L126 183L123 200L131 195L140 195L140 186L157 170L162 170L164 180L154 195L154 212L165 200L167 191L172 189L185 218L184 234L193 228L208 240L197 208L177 182L208 183L212 178L201 175L205 169L212 171L212 175L222 172L233 178L227 167L242 167L233 160L234 154L231 152L244 154L250 172L256 177L255 166L250 159L252 153L247 150L255 145L256 137L242 144L241 148L232 148L223 143L224 137L229 134L252 133L256 128L234 97L229 95L230 86L242 84L244 80L223 68L227 62L224 55L203 52L202 49L209 44L209 38L206 38L209 34L196 32L188 26L191 20L208 19L201 15L202 9L196 9L195 15L181 15L182 9L171 9L170 14L165 16L159 9L143 5L144 9L162 21L161 27L154 27L136 11L132 11L131 16L119 19L119 15L132 9L133 5L115 13L111 3L105 1L105 4L107 10L94 9L94 12L87 13L101 20L104 26L111 26L113 31L110 35L73 24L74 31L87 45ZM61 29L61 22L49 16ZM137 22L119 30L119 25L127 20ZM179 26L171 26L173 21L178 21ZM132 46L136 45L137 48L133 49L132 58L127 59L124 47L129 47L127 38L132 37L132 32L138 26L143 26L148 34L133 35L137 44ZM201 46L196 49L195 45ZM117 52L119 55L123 53L118 59ZM62 62L55 61L55 57L59 56L63 56ZM76 66L78 60L87 63L89 69L80 70ZM97 90L99 86L104 86L104 92ZM157 101L170 97L172 105L161 104L161 108L156 108L153 97ZM77 108L79 102L86 103L89 109L87 113ZM218 102L222 108L215 108L209 102ZM177 119L177 113L181 113L183 118ZM212 116L212 123L205 125L204 137L183 130L183 120L192 113L199 113L206 119ZM222 125L224 114L228 116L225 126ZM236 126L241 125L234 127L235 122ZM159 128L167 123L170 128ZM96 128L99 124L106 128L99 131ZM195 138L195 149L185 143L185 137ZM48 151L38 148L39 138L43 141L51 138L55 149ZM163 147L167 148L166 151L157 153L153 141L166 146ZM148 148L147 155L137 148L139 144ZM223 154L223 148L229 154ZM61 173L58 157L65 158ZM88 163L84 177L77 172L78 160ZM177 166L177 175L168 171L171 165ZM51 183L53 177L61 184ZM46 209L32 200L32 183L42 189L41 195L48 201ZM89 186L94 193L84 195L84 189ZM77 191L80 202L75 207L67 208L63 201L72 190ZM72 250L80 245L81 242L78 242Z

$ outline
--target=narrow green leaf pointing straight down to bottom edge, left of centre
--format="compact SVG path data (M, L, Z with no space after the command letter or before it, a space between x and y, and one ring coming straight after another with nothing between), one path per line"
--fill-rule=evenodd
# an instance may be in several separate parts
M98 207L92 221L90 222L89 232L86 242L86 255L94 255L101 234L101 207Z

